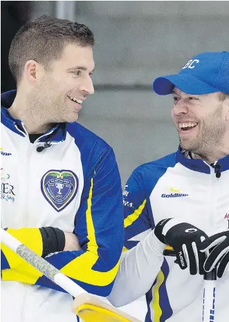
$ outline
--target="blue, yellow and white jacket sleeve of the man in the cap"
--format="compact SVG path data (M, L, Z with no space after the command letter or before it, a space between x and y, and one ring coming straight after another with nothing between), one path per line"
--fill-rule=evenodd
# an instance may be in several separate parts
M125 252L122 253L118 275L108 296L115 306L135 301L152 287L163 264L165 249L152 230L152 208L138 171L132 173L125 187Z

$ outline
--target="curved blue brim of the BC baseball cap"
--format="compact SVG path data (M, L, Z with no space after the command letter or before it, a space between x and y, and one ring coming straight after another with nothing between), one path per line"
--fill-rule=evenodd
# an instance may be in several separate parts
M172 94L174 87L191 95L204 95L219 92L219 89L210 86L189 74L161 76L156 78L153 83L154 92L158 95Z

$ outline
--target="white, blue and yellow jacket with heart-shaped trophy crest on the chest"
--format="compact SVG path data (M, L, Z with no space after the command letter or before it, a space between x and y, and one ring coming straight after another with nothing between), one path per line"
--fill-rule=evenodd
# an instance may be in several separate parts
M59 124L31 144L23 123L8 113L14 98L15 91L1 97L1 227L39 255L39 227L74 231L82 249L46 260L86 291L107 296L124 240L113 150L77 123ZM32 268L1 245L1 321L77 321L72 296Z

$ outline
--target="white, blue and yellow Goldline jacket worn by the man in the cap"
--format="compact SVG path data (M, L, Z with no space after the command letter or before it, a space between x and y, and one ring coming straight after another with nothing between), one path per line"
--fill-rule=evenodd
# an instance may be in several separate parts
M186 158L178 149L134 170L123 191L125 247L131 250L122 254L109 296L113 305L125 305L146 293L145 321L202 321L203 276L181 270L174 257L164 258L164 246L152 229L164 218L177 218L208 236L227 231L229 155L216 165ZM217 280L216 322L228 321L228 294L227 271Z

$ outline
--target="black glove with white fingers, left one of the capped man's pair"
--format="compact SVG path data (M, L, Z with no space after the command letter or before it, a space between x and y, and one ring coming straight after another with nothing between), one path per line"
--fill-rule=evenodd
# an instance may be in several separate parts
M201 242L208 238L205 232L187 222L178 223L176 219L168 218L158 222L154 234L161 243L173 247L181 269L189 267L191 275L205 273L203 264L206 255L199 250Z

